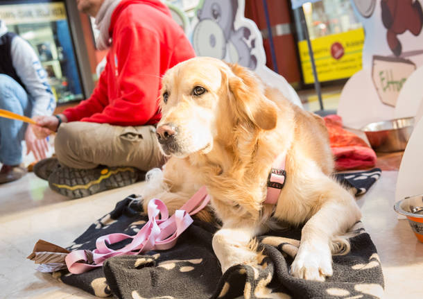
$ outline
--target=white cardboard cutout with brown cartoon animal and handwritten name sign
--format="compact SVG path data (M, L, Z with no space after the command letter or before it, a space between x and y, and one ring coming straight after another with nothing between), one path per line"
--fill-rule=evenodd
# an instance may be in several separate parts
M351 0L365 30L363 69L343 88L338 114L362 128L395 118L407 78L423 65L422 0Z

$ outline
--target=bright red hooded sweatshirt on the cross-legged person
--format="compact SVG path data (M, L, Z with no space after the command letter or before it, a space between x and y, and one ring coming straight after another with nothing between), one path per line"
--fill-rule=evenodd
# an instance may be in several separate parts
M142 126L161 118L164 72L195 53L159 0L123 0L110 22L112 46L92 96L64 110L68 121Z

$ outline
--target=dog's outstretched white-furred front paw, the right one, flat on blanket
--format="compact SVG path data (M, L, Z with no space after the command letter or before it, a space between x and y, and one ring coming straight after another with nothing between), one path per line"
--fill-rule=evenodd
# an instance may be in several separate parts
M332 256L329 246L307 244L300 246L291 265L291 275L304 280L324 282L332 273Z

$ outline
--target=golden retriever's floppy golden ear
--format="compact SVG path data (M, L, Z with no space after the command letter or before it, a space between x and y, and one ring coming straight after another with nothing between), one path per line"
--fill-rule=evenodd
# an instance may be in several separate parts
M277 106L264 95L262 83L252 72L239 65L229 64L235 76L227 78L232 109L239 119L250 121L263 130L277 124Z

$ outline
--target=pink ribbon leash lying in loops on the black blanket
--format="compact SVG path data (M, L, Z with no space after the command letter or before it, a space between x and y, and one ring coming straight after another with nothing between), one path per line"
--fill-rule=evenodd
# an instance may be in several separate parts
M157 198L148 202L148 221L135 236L128 234L106 234L96 240L96 249L75 250L64 261L70 273L80 274L103 265L103 262L116 255L139 255L149 250L166 250L175 246L178 237L193 220L190 215L202 210L210 200L207 189L202 186L180 210L169 217L166 205ZM159 218L160 215L160 218ZM113 250L107 244L116 244L125 239L131 243L119 250Z

